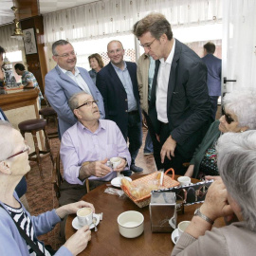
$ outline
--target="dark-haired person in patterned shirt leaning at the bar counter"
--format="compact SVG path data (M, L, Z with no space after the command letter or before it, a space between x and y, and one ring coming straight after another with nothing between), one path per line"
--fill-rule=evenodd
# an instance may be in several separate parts
M14 69L19 76L22 76L22 84L24 85L24 88L37 88L39 90L38 101L41 106L41 101L44 97L35 76L31 72L25 70L24 64L15 64Z

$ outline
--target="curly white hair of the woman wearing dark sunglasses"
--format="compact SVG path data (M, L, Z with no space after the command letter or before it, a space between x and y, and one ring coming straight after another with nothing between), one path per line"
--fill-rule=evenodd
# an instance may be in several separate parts
M223 99L225 109L233 112L239 127L247 126L248 130L256 129L256 90L240 88L227 93Z

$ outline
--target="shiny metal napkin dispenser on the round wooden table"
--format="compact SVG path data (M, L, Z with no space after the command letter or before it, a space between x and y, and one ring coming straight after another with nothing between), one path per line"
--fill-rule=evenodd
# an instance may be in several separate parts
M176 228L176 197L174 192L151 192L149 205L151 229L154 233L169 233Z

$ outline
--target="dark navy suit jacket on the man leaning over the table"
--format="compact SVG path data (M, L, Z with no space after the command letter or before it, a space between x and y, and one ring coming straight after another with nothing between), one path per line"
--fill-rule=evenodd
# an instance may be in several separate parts
M155 62L149 116L159 135L160 121L155 109L156 79L159 61ZM177 142L176 150L186 156L192 154L204 137L212 121L207 87L207 67L192 51L175 39L167 96L167 118L170 135Z

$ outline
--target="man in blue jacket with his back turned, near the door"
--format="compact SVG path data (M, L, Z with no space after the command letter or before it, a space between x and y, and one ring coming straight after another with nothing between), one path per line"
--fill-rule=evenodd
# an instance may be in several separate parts
M218 99L221 96L221 59L213 55L215 48L215 45L210 42L204 45L204 57L202 58L208 69L207 85L210 95L212 119L216 117Z

